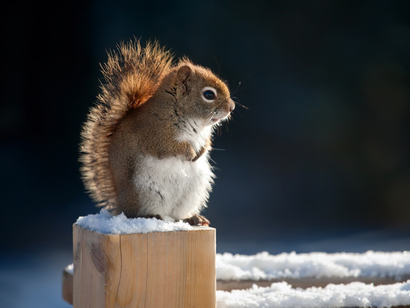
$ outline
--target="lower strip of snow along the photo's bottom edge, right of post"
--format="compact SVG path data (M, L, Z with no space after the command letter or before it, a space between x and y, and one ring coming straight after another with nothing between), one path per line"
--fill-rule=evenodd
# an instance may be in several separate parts
M410 304L410 280L393 285L329 284L305 290L282 283L270 287L253 285L248 290L216 291L217 308L337 308L392 307Z

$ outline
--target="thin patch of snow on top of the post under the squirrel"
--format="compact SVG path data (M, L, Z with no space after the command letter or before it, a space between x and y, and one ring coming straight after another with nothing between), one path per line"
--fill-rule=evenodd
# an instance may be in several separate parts
M175 222L172 218L127 218L124 214L112 216L105 209L99 214L79 217L76 224L82 228L105 234L131 234L148 232L187 231L193 227L182 221Z

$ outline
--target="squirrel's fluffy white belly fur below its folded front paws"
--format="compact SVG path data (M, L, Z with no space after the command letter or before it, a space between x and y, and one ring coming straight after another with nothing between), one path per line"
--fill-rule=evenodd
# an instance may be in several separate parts
M141 213L180 220L206 206L214 177L207 153L195 162L144 155L137 165L134 183L144 205Z

